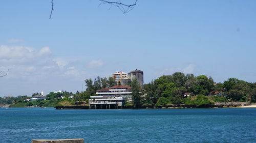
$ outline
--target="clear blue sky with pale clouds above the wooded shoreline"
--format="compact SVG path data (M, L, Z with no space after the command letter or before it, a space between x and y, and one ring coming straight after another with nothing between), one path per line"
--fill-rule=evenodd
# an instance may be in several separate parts
M123 0L133 4L134 0ZM84 91L84 80L174 72L256 82L256 1L0 1L0 97ZM8 71L9 70L9 71Z

